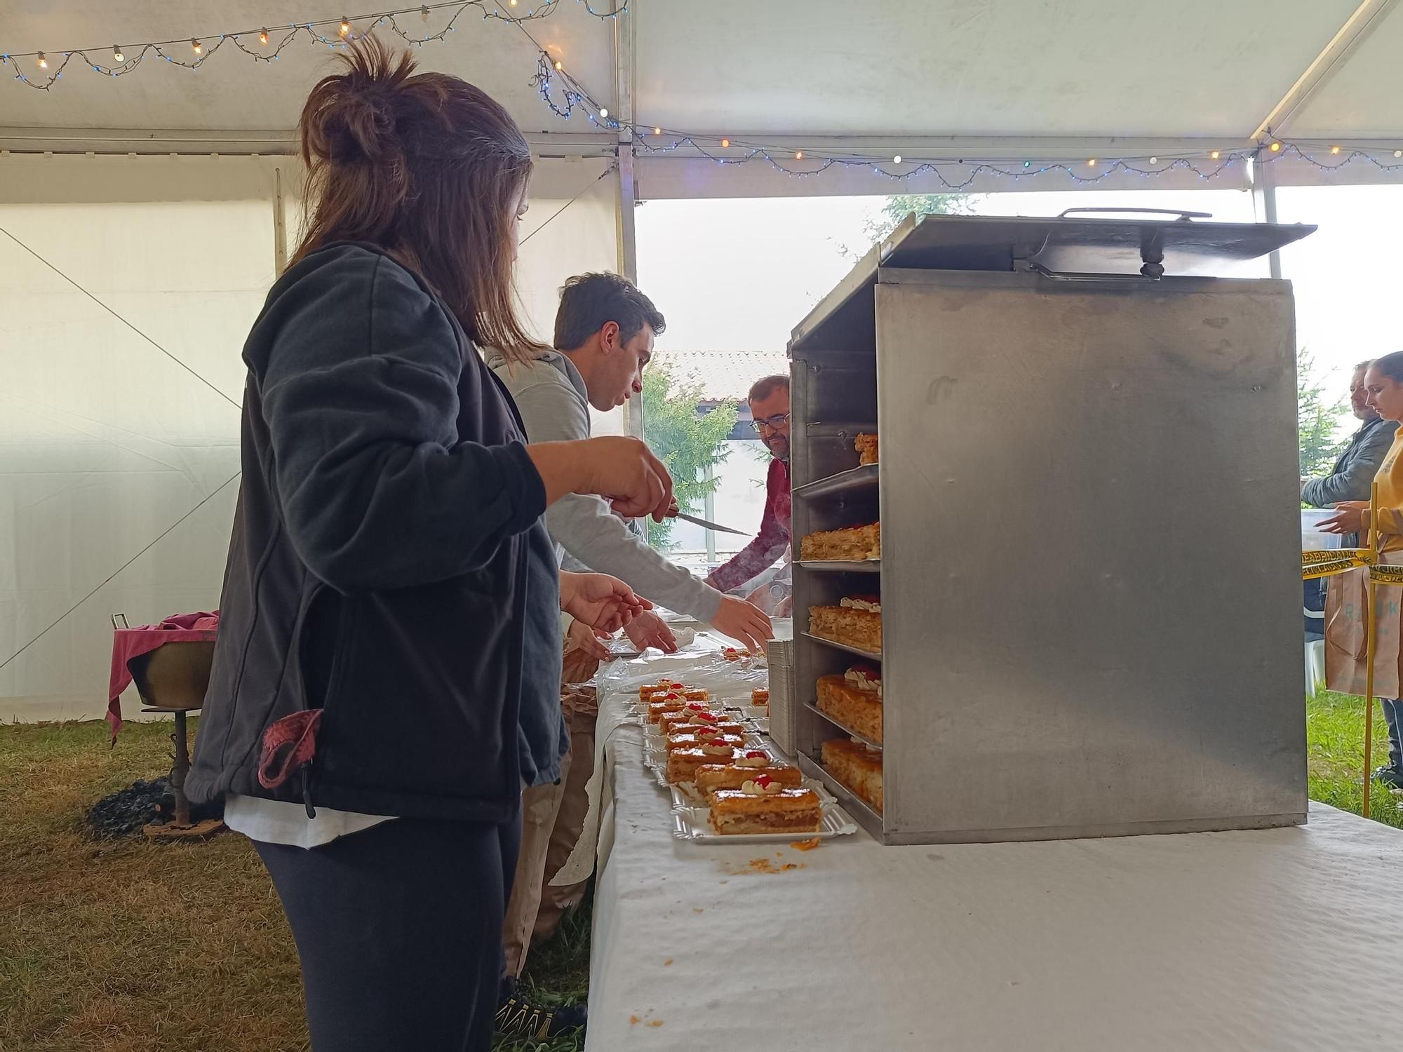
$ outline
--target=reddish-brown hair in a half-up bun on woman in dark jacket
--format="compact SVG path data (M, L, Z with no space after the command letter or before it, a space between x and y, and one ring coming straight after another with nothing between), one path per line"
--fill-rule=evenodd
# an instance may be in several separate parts
M544 349L516 314L512 205L530 147L506 109L446 73L414 73L375 36L323 77L297 121L307 224L293 262L369 241L428 282L478 345L512 360Z

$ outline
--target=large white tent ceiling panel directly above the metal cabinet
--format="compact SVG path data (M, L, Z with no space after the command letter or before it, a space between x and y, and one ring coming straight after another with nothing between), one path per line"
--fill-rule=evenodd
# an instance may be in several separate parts
M644 3L638 115L716 133L1240 137L1357 0Z

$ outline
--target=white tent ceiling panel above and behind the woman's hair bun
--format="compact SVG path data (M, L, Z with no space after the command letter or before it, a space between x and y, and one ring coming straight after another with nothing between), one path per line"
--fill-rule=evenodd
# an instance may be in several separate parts
M401 4L403 6L403 4ZM0 7L14 7L0 4ZM347 10L349 7L349 11ZM267 25L274 42L276 27L289 17L318 21L354 14L356 7L342 0L236 0L217 6L199 0L139 0L114 4L109 0L66 0L63 4L24 4L0 20L0 49L7 52L46 50L52 58L62 48L94 46L93 56L111 60L112 45L130 50L132 43L215 32L202 36L206 48L226 29L257 29ZM384 6L376 8L384 10ZM401 15L405 32L436 32L449 11L432 11L428 22L417 14ZM570 72L592 95L607 104L613 84L613 22L593 18L582 6L563 3L549 18L525 27L540 45L568 63ZM286 29L283 31L286 32ZM335 27L323 31L335 36ZM390 42L398 36L389 34ZM260 49L258 38L244 42ZM189 45L174 53L191 56ZM501 101L526 130L588 128L560 121L540 101L532 86L536 46L521 28L497 20L484 21L469 8L457 29L442 42L415 48L421 69L453 73L481 87ZM191 56L192 58L192 56ZM331 50L306 35L293 41L276 62L257 62L239 53L231 43L198 70L180 69L147 55L135 73L109 77L74 60L51 91L35 91L10 77L0 77L0 123L32 128L152 128L152 129L267 129L292 128L307 90L335 70ZM38 70L31 70L38 73Z

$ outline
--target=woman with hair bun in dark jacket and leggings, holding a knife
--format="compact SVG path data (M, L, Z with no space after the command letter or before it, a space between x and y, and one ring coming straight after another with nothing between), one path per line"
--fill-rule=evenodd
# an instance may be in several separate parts
M316 1052L491 1044L521 791L567 748L570 492L666 512L634 439L526 446L483 363L537 345L512 269L530 151L494 100L373 39L302 112L306 233L244 345L243 484L188 791L254 839Z

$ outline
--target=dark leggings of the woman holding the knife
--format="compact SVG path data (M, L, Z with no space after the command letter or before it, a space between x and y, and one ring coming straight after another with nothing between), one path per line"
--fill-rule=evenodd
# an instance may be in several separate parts
M314 1052L491 1048L519 839L518 814L255 844L297 941Z

